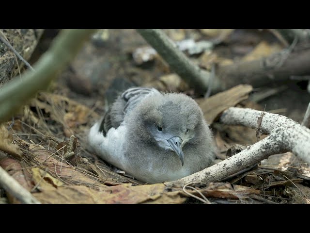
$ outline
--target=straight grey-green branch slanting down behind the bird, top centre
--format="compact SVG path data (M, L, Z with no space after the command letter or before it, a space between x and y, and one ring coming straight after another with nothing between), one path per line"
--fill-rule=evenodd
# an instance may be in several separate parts
M158 52L186 83L204 94L210 83L210 73L193 64L176 44L160 29L137 29L137 32ZM212 90L220 90L214 77Z

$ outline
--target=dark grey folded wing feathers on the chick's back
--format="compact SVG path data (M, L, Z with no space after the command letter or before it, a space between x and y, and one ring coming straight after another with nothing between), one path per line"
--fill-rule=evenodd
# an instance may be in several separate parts
M112 127L117 129L122 124L126 114L132 111L146 96L155 93L160 94L156 89L147 87L132 87L125 90L103 117L99 131L106 136Z

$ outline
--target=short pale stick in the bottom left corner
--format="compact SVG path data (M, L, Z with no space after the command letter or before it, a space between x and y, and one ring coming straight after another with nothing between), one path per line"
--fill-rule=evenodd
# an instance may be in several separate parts
M40 204L31 193L0 166L0 186L23 204Z

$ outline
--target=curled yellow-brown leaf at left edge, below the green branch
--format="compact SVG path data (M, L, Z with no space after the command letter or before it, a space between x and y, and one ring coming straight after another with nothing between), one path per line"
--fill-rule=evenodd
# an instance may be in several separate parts
M6 129L4 124L0 125L0 150L12 155L13 157L20 159L23 156L23 152L17 145L12 143L13 135Z

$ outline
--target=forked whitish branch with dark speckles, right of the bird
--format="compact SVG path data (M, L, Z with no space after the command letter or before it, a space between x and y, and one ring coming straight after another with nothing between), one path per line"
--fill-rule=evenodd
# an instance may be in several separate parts
M270 134L246 150L214 165L167 185L185 185L198 182L209 183L225 179L227 176L252 166L270 155L292 151L306 163L310 163L310 129L285 116L253 109L231 107L224 111L220 122L243 125Z

